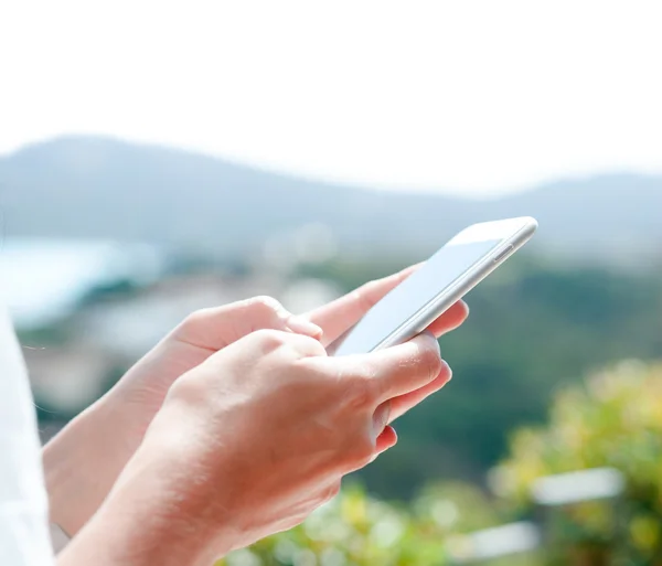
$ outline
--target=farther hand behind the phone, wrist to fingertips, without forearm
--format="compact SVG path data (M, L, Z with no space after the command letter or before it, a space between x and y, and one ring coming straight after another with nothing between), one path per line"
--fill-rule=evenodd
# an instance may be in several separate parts
M126 423L121 437L127 445L127 460L140 444L172 383L213 353L260 329L296 332L317 338L328 345L353 327L417 267L412 266L384 279L370 281L301 317L289 313L270 297L257 297L194 312L131 367L109 395L109 405L117 413L117 419ZM467 305L459 301L428 330L438 338L458 328L468 312ZM426 389L396 401L393 418L401 416L444 383L429 384Z

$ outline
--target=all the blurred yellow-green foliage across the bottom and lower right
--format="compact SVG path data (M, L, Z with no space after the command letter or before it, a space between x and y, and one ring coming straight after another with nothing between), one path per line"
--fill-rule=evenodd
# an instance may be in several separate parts
M376 466L373 466L376 467ZM536 508L543 477L611 467L616 500ZM352 487L303 525L235 553L225 566L445 565L449 538L508 519L542 519L546 545L494 566L662 565L662 363L624 362L557 393L549 424L523 428L492 473L500 501L466 483L437 482L408 505Z

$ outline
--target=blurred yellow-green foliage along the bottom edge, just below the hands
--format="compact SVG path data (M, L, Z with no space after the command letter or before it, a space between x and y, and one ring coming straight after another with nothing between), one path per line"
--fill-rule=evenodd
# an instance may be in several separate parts
M408 508L352 485L302 525L217 566L441 566L448 564L449 534L494 520L487 499L466 484L430 485Z

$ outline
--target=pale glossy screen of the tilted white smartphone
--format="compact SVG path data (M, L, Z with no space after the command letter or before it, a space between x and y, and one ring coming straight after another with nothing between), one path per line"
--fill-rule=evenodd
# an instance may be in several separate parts
M502 242L448 243L377 302L339 342L334 355L372 352Z

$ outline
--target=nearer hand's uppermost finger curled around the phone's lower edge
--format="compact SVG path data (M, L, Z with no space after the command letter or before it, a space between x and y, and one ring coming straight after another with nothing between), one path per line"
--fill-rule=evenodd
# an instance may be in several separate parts
M439 343L425 331L404 344L371 352L327 359L343 375L369 378L369 403L377 405L428 385L439 375Z

